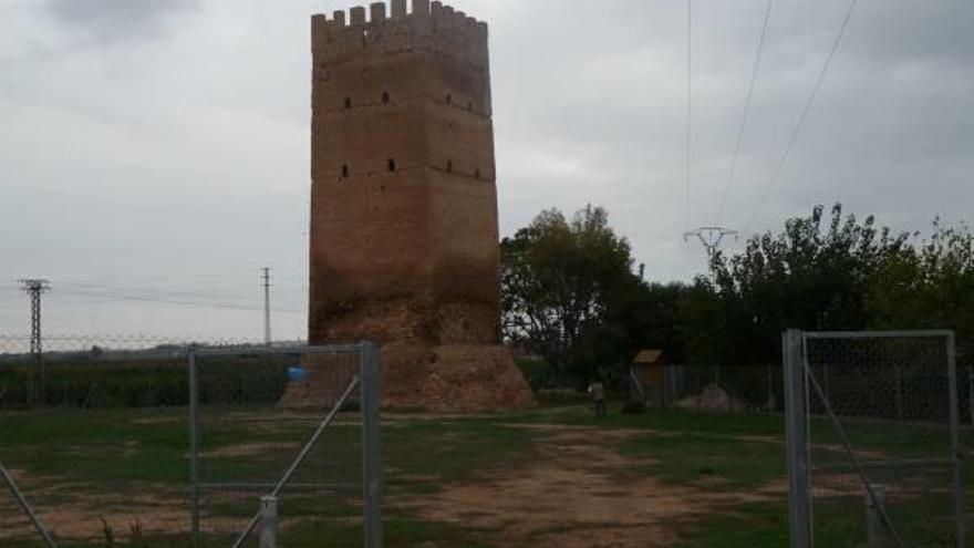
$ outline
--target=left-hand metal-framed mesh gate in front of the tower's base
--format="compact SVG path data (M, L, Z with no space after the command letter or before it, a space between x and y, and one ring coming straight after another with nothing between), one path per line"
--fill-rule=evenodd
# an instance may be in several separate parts
M374 344L188 360L194 547L382 546Z

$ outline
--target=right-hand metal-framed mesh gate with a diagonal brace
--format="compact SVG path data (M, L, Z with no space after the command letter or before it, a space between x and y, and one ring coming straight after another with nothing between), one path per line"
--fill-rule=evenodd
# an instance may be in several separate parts
M792 548L967 547L954 334L784 334Z

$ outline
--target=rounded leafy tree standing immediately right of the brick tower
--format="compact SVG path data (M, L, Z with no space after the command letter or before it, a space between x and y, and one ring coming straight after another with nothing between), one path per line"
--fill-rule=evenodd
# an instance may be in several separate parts
M624 338L608 337L619 329L608 323L613 304L642 285L629 241L609 227L605 209L589 205L571 220L542 211L501 241L501 262L505 338L545 358L561 382L593 375Z

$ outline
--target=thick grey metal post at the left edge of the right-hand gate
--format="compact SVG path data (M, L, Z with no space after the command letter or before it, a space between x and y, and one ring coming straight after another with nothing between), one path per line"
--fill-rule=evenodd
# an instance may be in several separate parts
M785 362L785 431L788 447L788 520L791 548L811 546L811 513L808 488L808 423L806 421L806 371L804 334L789 329L781 335Z

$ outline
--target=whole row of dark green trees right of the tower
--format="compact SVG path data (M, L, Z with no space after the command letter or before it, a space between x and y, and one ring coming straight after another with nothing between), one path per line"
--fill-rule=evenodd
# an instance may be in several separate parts
M542 211L501 242L504 332L561 384L622 379L642 348L671 363L777 363L781 331L953 329L974 361L974 234L925 240L841 205L717 254L692 285L646 283L604 209ZM966 344L965 344L965 341Z

